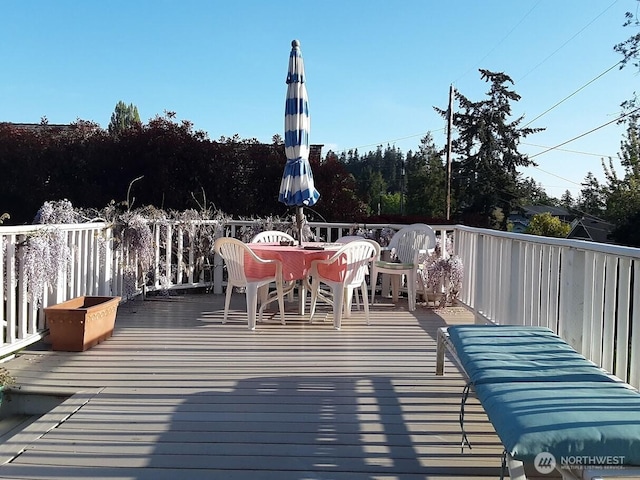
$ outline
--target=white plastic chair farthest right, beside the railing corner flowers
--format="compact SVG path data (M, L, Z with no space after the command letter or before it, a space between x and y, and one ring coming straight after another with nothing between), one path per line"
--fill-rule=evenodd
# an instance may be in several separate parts
M422 253L430 253L436 245L436 234L424 223L415 223L398 230L389 242L389 249L396 261L377 260L371 270L371 304L375 299L376 284L379 273L392 275L391 287L393 301L397 302L400 280L407 277L407 294L409 311L416 309L416 281L420 268L419 258Z

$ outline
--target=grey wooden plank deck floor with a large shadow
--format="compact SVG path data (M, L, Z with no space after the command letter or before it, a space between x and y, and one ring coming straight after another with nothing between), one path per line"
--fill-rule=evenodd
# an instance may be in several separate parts
M128 302L91 350L6 363L25 390L75 395L4 442L0 479L499 478L482 408L469 399L461 453L464 380L434 374L436 330L471 323L464 309L381 303L335 331L321 306L324 322L292 311L250 332L244 296L226 324L223 301Z

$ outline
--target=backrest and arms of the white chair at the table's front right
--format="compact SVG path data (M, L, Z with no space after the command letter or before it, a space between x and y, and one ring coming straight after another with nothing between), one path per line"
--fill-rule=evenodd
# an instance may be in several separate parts
M326 262L318 263L320 277L342 282L344 286L360 286L371 263L380 254L380 245L373 240L354 240L345 243Z

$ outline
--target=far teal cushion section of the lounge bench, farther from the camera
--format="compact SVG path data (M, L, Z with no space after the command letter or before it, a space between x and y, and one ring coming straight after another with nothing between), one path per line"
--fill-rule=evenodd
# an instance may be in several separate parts
M614 382L548 328L458 325L447 329L473 385L489 382Z

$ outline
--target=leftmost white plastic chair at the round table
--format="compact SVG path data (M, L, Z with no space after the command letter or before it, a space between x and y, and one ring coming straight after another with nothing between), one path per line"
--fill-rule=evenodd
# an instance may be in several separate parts
M223 237L216 239L214 249L227 266L227 295L224 302L224 318L227 321L229 304L233 287L245 287L247 297L247 316L249 330L256 328L256 310L258 304L258 288L276 283L276 295L280 306L280 318L284 319L284 294L282 287L282 262L279 260L265 260L258 257L243 242L235 238ZM272 265L272 267L270 267ZM260 318L262 320L262 311Z

